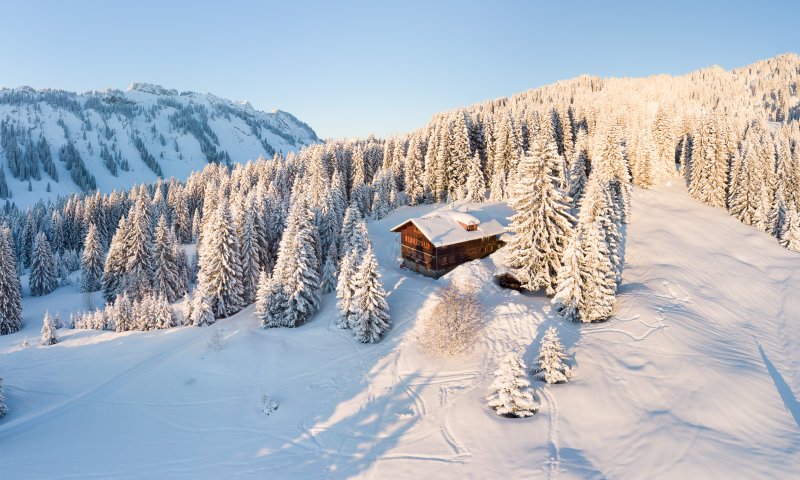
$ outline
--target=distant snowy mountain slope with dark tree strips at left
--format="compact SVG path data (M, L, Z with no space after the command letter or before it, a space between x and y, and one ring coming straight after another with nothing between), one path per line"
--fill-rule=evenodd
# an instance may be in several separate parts
M244 162L316 142L289 113L158 85L82 94L0 89L0 198L24 206L95 187L184 178L208 162Z

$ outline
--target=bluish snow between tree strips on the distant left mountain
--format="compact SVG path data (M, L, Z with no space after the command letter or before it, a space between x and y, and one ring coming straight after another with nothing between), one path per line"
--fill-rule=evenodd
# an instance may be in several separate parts
M48 101L48 94L60 94L73 103L67 108ZM22 100L15 98L15 95ZM3 98L15 99L4 102ZM98 111L97 105L104 108L130 105L140 110L135 115L127 116L113 111ZM125 91L109 89L80 94L30 87L1 88L0 121L8 120L16 127L30 130L34 142L40 135L44 136L50 144L59 177L56 182L42 171L41 180L31 181L32 191L29 192L28 181L11 175L8 161L0 150L0 168L5 169L6 182L12 192L10 200L20 208L25 208L39 200L47 202L48 199L55 200L58 195L80 192L65 164L59 160L58 150L67 142L59 120L69 130L69 140L74 143L86 168L95 176L101 192L109 193L114 189L127 189L134 184L156 180L156 174L145 165L134 146L132 136L142 139L147 151L161 165L163 178L184 180L192 172L202 170L208 160L199 140L191 132L174 128L170 121L170 116L178 112L176 106L194 109L187 115L196 120L202 120L206 115L208 127L217 136L214 147L228 152L234 163L255 160L259 156L271 158L272 153L265 150L262 142L266 142L275 152L286 154L320 141L308 125L290 113L280 110L262 112L247 102L233 102L212 94L178 93L177 90L148 83L134 83ZM199 113L201 110L204 114ZM90 130L87 125L91 125ZM110 138L105 137L106 125L114 132ZM128 160L130 171L119 170L118 175L113 176L100 158L100 142L109 149L114 145ZM176 144L180 151L175 150ZM46 191L48 183L50 192Z

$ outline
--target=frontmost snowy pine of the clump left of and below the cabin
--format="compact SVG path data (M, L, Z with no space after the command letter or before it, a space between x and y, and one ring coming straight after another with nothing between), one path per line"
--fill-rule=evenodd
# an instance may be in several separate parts
M375 343L389 330L390 315L372 245L368 245L364 252L361 265L356 271L354 284L352 301L354 312L350 326L356 340L362 343Z

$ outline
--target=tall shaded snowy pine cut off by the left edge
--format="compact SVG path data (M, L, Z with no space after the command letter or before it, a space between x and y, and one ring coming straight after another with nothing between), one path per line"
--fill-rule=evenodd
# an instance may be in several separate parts
M8 226L0 226L0 335L22 327L22 290L13 245Z

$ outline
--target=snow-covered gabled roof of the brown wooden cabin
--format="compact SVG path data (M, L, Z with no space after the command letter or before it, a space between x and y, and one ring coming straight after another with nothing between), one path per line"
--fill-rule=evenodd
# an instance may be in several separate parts
M409 218L392 228L391 231L398 232L400 228L409 222L413 223L425 235L425 238L437 247L446 247L457 243L492 237L506 231L505 227L493 218L481 222L469 213L450 208L435 210L418 218ZM467 230L465 228L467 225L477 225L477 228Z

